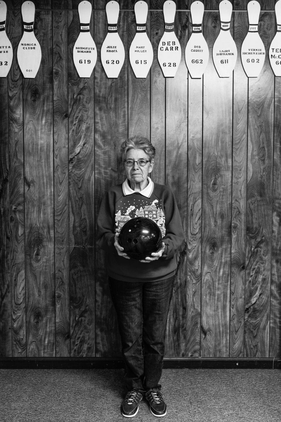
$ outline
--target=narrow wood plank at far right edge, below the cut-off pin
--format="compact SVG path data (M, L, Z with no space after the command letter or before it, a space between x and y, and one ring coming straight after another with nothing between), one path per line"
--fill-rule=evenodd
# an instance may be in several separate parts
M269 356L281 354L281 78L275 78Z

